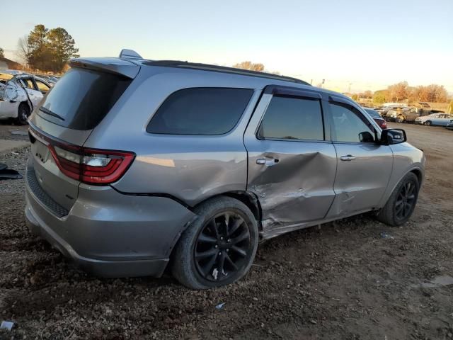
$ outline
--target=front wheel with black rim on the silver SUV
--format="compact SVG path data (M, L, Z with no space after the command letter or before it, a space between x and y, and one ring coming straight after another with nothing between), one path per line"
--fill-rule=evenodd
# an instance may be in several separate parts
M391 193L384 208L377 214L377 220L394 227L406 223L417 204L419 190L420 184L417 176L412 172L406 174Z

